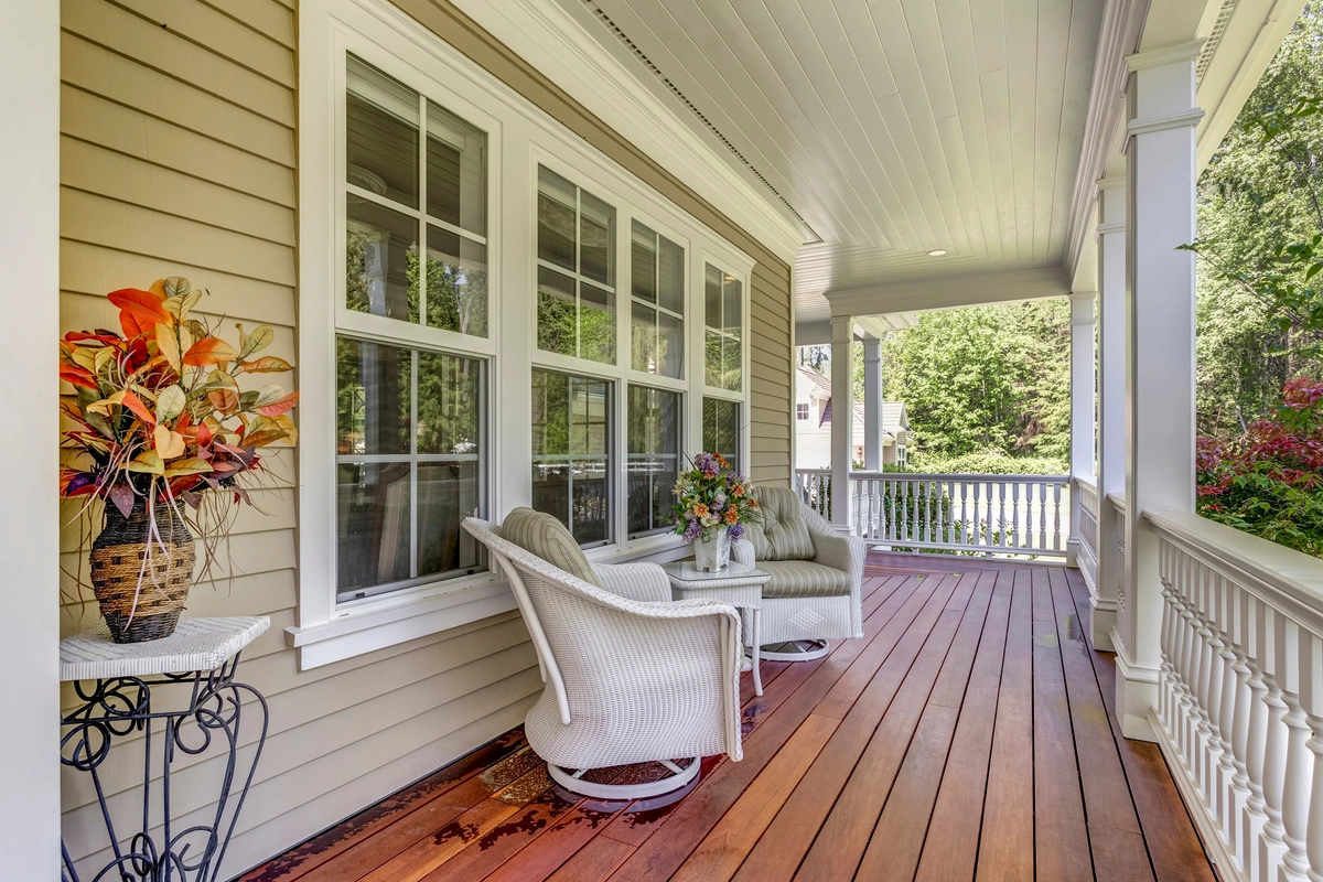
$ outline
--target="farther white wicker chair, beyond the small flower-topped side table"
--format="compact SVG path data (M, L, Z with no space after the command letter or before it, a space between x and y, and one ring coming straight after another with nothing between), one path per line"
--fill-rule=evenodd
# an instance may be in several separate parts
M758 499L767 509L773 505L795 506L803 510L804 524L812 541L812 558L806 561L778 562L755 559L754 546L749 540L737 540L730 545L730 557L740 563L775 570L778 566L792 565L799 575L814 567L839 570L848 577L848 592L831 596L804 592L786 595L778 591L778 574L763 588L762 600L762 657L774 661L808 661L827 655L828 640L841 640L864 636L863 581L867 543L853 536L841 536L822 518L818 512L804 505L799 496L785 488L759 488ZM835 577L840 579L840 577Z

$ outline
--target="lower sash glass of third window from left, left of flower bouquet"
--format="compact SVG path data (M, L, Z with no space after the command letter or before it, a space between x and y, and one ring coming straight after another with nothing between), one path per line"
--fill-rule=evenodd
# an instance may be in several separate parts
M680 393L630 386L630 538L675 526L671 504L680 477Z

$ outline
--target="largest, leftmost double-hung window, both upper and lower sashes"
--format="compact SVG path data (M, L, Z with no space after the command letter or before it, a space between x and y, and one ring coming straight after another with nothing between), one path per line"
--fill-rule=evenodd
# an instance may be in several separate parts
M336 596L483 569L487 135L349 54L336 311ZM456 345L458 341L458 345Z

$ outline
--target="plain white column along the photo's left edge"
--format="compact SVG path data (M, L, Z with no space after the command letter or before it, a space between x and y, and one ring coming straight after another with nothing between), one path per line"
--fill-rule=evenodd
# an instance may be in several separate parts
M60 4L5 8L0 28L0 401L21 418L0 440L11 468L0 559L12 627L0 640L0 875L60 878ZM20 208L21 206L21 208Z

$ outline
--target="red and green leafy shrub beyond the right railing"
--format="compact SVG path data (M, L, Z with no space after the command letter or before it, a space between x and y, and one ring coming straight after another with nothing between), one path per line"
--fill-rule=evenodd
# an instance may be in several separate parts
M1200 438L1195 461L1200 514L1323 558L1323 381L1291 380L1270 419Z

